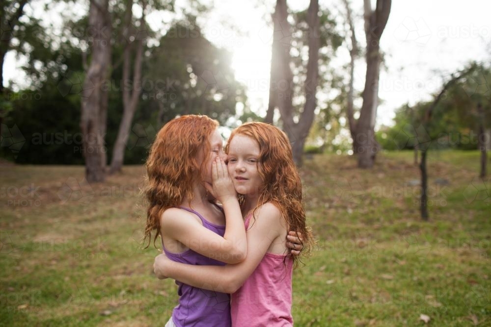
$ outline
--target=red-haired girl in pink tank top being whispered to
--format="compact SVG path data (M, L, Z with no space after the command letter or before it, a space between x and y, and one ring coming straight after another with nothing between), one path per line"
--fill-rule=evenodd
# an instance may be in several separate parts
M313 238L290 143L277 127L246 123L232 132L225 152L246 226L245 260L191 266L161 254L154 271L159 278L231 293L233 327L293 326L292 273L298 258L287 255L285 238L288 230L300 233L302 253L309 252Z

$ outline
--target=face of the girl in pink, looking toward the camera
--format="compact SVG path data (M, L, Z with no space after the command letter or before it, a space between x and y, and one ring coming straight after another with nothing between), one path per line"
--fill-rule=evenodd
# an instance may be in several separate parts
M228 174L235 190L243 195L258 195L264 181L258 165L261 151L256 140L241 134L235 135L228 145Z

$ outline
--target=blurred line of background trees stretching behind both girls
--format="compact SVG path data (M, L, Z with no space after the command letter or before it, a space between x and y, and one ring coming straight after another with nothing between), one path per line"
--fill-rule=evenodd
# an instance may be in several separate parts
M428 125L422 125L423 117L433 100L403 105L393 125L377 126L384 69L379 43L390 1L379 0L375 8L365 1L364 13L352 11L348 0L338 3L337 12L317 0L300 11L274 1L270 97L263 113L249 107L232 54L205 36L206 23L197 18L211 9L198 1L179 10L172 0L94 0L74 7L46 2L46 12L65 5L58 25L26 12L32 3L2 2L1 58L9 51L25 58L29 81L1 92L0 155L16 163L85 164L97 167L94 173L88 169L87 179L103 180L124 164L143 163L166 122L198 113L230 128L249 120L280 126L299 165L304 152L353 154L359 167L369 168L379 150L412 150L418 162L425 142L432 149L462 150L489 144L489 90L482 88L489 85L491 68L478 62L464 67L469 74L444 92ZM168 24L151 26L153 12L170 17ZM363 22L360 38L355 25ZM351 60L340 69L336 61L346 53ZM355 62L367 67L366 74L357 74L364 77L364 91L353 85ZM446 80L448 74L442 75L440 89ZM92 156L84 142L94 135L99 153ZM370 151L362 156L361 148ZM486 176L483 153L480 175Z

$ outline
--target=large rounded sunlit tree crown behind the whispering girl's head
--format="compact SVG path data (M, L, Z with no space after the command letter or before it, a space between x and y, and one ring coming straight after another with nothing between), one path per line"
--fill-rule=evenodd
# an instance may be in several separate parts
M177 114L203 114L225 124L235 115L237 102L246 102L230 61L230 53L210 43L193 17L178 21L152 49L147 77L161 87L143 98L162 102L162 121Z

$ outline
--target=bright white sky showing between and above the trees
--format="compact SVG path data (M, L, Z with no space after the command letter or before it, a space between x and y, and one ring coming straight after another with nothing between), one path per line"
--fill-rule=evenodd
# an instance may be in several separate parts
M232 53L232 67L236 78L247 87L249 106L261 115L268 106L274 2L215 0L213 11L198 19L198 24L204 26L206 37ZM363 40L363 1L351 2L357 22L357 39ZM320 3L321 8L329 8L337 20L344 20L341 0L320 0ZM288 5L300 10L308 6L308 1L290 0ZM394 109L404 103L431 99L441 86L442 78L463 68L470 60L489 64L490 13L489 0L393 0L381 39L385 63L380 75L382 102L377 112L377 125L391 125ZM169 17L154 13L149 15L149 24L153 28L162 28L161 22L168 22ZM343 46L338 50L334 64L349 60L348 50ZM4 80L22 83L25 79L18 66L13 53L7 54ZM363 90L365 69L362 58L355 66L357 91ZM485 88L489 90L489 76L486 84ZM361 105L361 102L355 104Z

